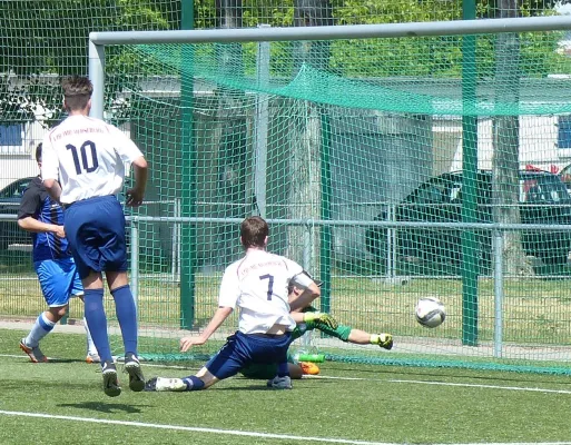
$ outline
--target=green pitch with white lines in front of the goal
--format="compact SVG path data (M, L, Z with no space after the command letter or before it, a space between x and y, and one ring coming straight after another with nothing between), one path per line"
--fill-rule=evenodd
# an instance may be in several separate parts
M234 377L199 393L109 398L85 337L51 334L49 364L0 330L0 444L472 444L570 443L565 376L325 363L319 378L276 392ZM201 363L150 363L147 377L189 375ZM126 375L120 375L126 380Z

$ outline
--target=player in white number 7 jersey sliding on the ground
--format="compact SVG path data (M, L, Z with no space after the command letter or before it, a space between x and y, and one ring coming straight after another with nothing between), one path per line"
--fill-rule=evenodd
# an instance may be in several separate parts
M147 390L200 390L236 375L249 364L278 364L273 387L291 388L287 348L295 322L289 315L287 286L294 278L315 299L317 285L297 263L266 251L268 225L257 216L240 225L240 241L246 255L229 265L223 276L218 309L198 336L180 339L180 350L204 345L238 306L238 330L227 338L221 349L195 375L184 378L154 377Z

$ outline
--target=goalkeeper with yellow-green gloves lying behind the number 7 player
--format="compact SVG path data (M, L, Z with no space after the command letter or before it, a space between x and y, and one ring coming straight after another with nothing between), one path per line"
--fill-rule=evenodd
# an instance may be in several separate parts
M291 297L295 298L303 290L298 287L291 286ZM297 326L292 333L292 342L302 337L306 332L319 329L322 333L331 337L338 338L345 343L353 343L356 345L378 345L384 349L392 349L393 336L391 334L370 334L365 330L355 329L350 326L339 325L336 320L331 320L325 317L325 314L317 313L312 306L305 308L306 313L292 313ZM319 314L322 319L312 320L307 317L308 314ZM329 316L331 317L331 316ZM319 368L313 363L297 362L291 354L288 354L288 366L291 378L302 378L304 374L318 374ZM276 375L277 366L275 364L262 365L252 364L244 369L243 374L247 378L269 379L268 385Z

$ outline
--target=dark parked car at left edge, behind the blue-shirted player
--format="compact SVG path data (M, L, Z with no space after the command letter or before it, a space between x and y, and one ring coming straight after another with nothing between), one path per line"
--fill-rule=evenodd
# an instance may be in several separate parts
M0 215L17 215L23 191L35 177L17 179L0 190ZM16 220L0 220L0 250L11 245L31 244L30 234L18 227Z

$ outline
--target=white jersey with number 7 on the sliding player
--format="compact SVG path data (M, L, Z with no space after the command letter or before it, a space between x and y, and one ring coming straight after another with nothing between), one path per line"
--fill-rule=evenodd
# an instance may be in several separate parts
M239 307L238 329L243 334L266 334L275 324L293 330L287 285L302 273L302 266L291 259L249 249L226 268L218 306Z

